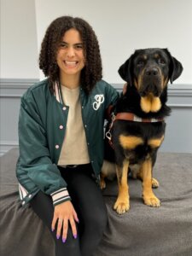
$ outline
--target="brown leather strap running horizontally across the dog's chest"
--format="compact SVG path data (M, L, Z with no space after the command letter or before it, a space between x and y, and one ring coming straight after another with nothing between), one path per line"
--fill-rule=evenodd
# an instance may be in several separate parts
M142 119L137 117L134 113L121 112L114 115L113 121L115 120L127 120L141 123L157 123L162 122L164 119Z

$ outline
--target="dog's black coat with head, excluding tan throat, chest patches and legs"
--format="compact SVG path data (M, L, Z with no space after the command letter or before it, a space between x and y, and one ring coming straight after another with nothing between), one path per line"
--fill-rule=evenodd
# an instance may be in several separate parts
M166 106L168 81L177 79L183 71L182 64L177 61L167 49L138 49L125 63L119 67L119 75L127 82L125 94L113 108L113 113L134 113L143 119L164 119L171 112ZM161 107L155 111L144 111L141 98L150 95L160 99ZM109 122L110 123L110 122ZM109 124L106 131L108 131ZM148 140L164 136L165 121L143 123L129 120L115 120L113 123L112 143L105 139L105 159L123 166L125 159L130 165L142 164L150 158L152 166L156 160L159 147L150 147ZM123 148L119 143L119 136L134 136L143 139L143 144L135 148Z

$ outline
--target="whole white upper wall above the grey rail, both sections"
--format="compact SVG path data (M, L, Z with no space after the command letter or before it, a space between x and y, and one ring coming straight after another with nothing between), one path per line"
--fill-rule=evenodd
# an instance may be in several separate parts
M38 51L45 29L56 17L73 15L87 20L96 31L103 77L109 83L123 83L119 65L134 49L148 47L170 49L184 67L176 83L192 83L192 0L0 1L3 79L38 79Z

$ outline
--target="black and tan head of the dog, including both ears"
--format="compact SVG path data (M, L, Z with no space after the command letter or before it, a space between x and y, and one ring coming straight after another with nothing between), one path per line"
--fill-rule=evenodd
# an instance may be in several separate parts
M119 75L128 84L134 84L140 96L152 94L159 97L168 84L176 80L183 71L182 64L168 49L137 49L119 67Z

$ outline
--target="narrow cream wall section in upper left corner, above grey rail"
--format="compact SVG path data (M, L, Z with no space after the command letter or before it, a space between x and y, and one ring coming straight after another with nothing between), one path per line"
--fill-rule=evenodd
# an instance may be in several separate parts
M0 3L1 78L39 78L34 0L1 0Z

